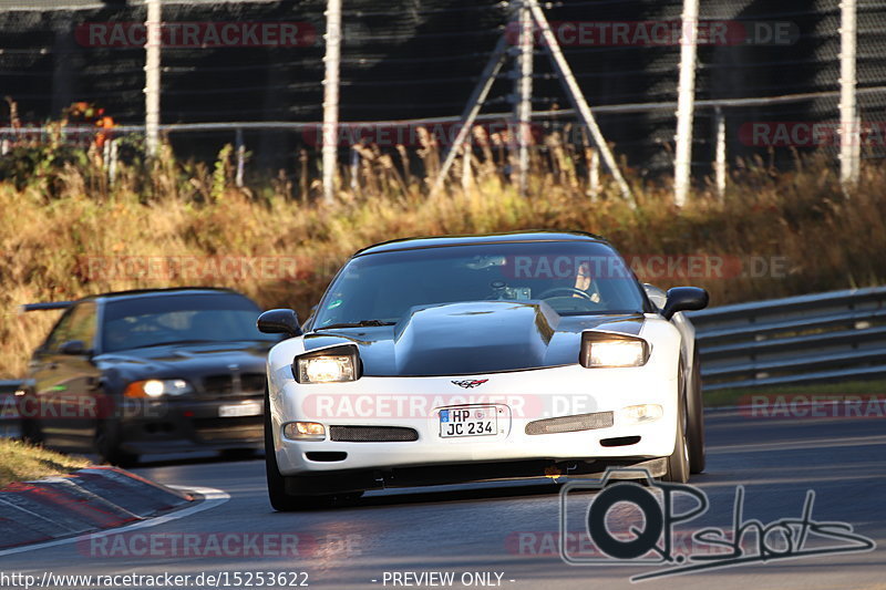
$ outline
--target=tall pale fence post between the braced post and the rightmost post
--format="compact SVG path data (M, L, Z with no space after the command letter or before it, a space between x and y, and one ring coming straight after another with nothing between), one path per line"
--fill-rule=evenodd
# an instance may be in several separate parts
M680 22L680 82L677 97L677 137L673 159L673 201L686 205L692 178L692 118L696 110L696 58L699 0L683 0Z

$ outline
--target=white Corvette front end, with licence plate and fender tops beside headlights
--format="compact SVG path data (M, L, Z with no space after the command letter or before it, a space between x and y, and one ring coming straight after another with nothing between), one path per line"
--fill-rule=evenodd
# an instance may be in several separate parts
M288 341L271 351L268 365L277 464L281 475L291 476L431 464L599 464L668 456L677 424L679 334L651 319L642 335L657 344L640 366L586 368L576 362L329 383L296 380L292 360L301 342Z

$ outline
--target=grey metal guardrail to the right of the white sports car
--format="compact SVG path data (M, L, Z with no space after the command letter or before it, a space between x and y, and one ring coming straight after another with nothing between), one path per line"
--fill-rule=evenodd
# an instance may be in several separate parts
M705 391L886 376L886 287L688 315Z

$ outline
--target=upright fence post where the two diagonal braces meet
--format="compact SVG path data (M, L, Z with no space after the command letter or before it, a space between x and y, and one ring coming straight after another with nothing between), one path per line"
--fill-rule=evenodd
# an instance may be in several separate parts
M525 197L529 179L529 125L533 116L533 15L524 0L517 2L516 19L518 27L518 59L514 73L516 86L515 120L518 149L518 186L519 196Z

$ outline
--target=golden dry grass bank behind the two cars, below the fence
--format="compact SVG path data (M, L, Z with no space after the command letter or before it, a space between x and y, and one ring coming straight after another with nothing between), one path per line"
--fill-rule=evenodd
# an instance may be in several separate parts
M606 236L626 253L790 260L784 277L656 281L705 287L713 304L877 284L886 277L883 167L866 167L847 200L824 159L783 174L758 164L734 173L723 203L699 190L682 210L672 205L668 186L635 177L639 208L631 210L612 186L593 201L577 172L584 154L559 147L535 159L529 197L521 198L502 172L507 154L498 139L487 139L470 174L456 165L453 182L434 198L427 197L426 178L404 169L405 149L391 157L370 147L362 151L358 178L342 179L333 205L317 198L316 182L299 187L280 177L235 187L229 149L213 169L178 163L168 153L147 169L121 166L113 186L94 154L50 162L18 186L2 180L0 377L24 372L58 317L18 314L21 303L189 283L233 287L262 306L302 314L354 250L416 235L579 229ZM431 167L439 158L430 143L419 155ZM295 257L299 273L287 280L223 273L150 279L90 271L91 257L122 256Z

